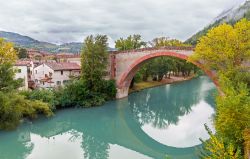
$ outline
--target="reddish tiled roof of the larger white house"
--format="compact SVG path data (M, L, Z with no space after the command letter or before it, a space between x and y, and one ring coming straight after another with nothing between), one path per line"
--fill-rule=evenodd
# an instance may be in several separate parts
M51 69L55 71L59 70L80 70L81 67L77 63L70 63L70 62L49 62L44 63L45 65L49 66Z

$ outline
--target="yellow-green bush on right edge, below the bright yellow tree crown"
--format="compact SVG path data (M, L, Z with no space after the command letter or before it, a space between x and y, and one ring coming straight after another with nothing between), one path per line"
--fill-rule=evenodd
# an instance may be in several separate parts
M244 83L232 83L226 77L220 81L225 96L217 97L215 128L225 141L243 146L243 131L250 128L249 89Z

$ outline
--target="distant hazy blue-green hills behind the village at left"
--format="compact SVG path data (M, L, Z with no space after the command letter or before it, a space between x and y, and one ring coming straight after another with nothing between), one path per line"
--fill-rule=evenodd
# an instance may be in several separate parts
M17 47L23 47L27 49L37 49L40 51L59 53L79 53L82 48L82 43L72 42L62 45L56 45L48 42L42 42L35 40L28 36L23 36L17 33L0 31L0 37L9 42L13 42Z

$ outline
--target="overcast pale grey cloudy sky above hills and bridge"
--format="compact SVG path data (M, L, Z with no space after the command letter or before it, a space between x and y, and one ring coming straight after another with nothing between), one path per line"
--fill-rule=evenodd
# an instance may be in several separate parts
M53 43L83 41L89 34L186 40L241 1L0 0L0 30Z

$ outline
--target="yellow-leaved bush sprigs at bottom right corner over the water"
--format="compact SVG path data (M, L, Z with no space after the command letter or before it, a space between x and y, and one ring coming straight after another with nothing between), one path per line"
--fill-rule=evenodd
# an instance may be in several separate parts
M241 151L233 144L225 144L223 138L214 135L212 131L205 125L205 128L210 135L210 139L202 141L203 150L200 158L202 159L242 159Z

